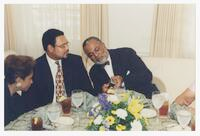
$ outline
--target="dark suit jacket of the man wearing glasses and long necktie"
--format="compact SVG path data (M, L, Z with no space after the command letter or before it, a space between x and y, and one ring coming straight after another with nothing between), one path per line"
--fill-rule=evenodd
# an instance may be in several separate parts
M80 56L68 54L66 59L62 59L62 69L66 94L68 96L71 96L71 91L74 89L82 89L93 94L93 87ZM27 101L31 101L30 103L33 105L28 105L28 107L35 108L51 103L53 95L53 77L44 54L36 60L33 84L30 91L27 92Z

